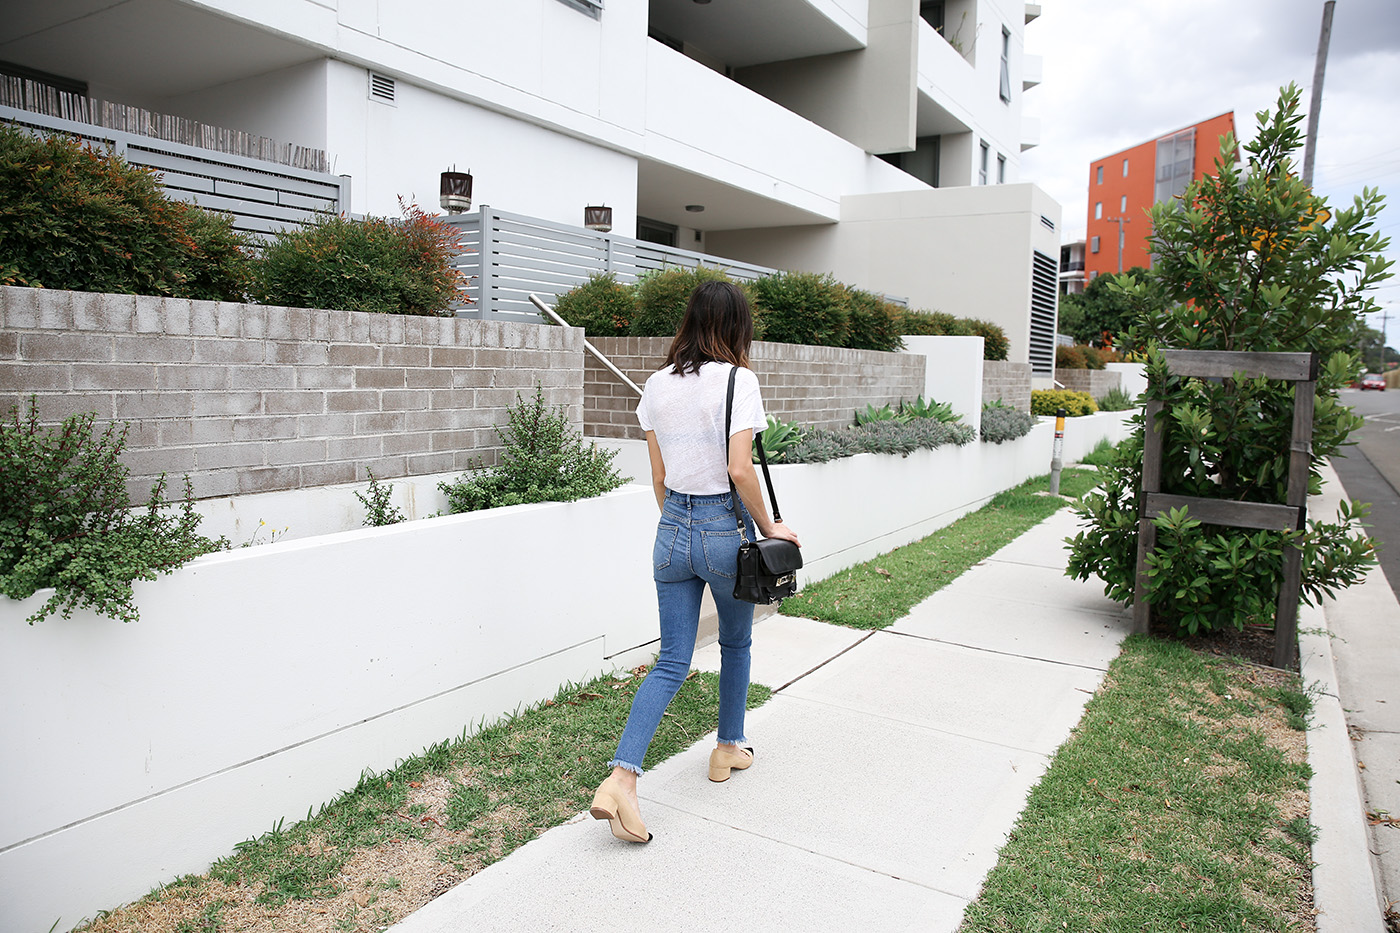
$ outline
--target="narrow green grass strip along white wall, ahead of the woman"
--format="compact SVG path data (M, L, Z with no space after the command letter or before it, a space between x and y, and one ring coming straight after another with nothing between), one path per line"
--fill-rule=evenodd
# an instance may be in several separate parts
M883 629L963 570L1089 492L1095 482L1098 474L1092 469L1065 469L1057 499L1042 495L1050 489L1049 475L1029 479L927 538L805 587L784 600L780 612L853 629Z

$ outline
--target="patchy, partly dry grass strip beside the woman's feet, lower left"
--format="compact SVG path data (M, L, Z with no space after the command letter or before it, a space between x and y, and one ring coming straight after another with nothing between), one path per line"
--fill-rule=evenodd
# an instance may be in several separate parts
M319 813L78 929L382 930L587 808L645 671L567 685L475 734L367 772ZM718 691L718 675L690 674L651 742L648 769L714 728ZM770 693L752 685L749 707Z

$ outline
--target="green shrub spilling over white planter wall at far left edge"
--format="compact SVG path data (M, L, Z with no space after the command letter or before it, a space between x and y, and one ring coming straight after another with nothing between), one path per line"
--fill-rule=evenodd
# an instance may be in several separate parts
M73 415L43 427L31 399L27 416L11 408L0 423L0 594L24 600L56 590L29 625L84 607L134 622L133 581L228 546L197 534L189 479L178 510L164 509L164 475L147 507L133 510L120 461L126 424L97 433L95 420Z

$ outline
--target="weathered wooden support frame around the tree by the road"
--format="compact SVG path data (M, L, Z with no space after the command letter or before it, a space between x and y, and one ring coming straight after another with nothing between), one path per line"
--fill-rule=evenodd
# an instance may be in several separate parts
M1147 601L1147 555L1156 548L1152 520L1186 506L1205 524L1275 531L1302 530L1308 520L1308 471L1312 466L1312 422L1317 401L1316 353L1242 353L1232 350L1163 350L1166 368L1175 375L1197 378L1282 380L1294 384L1294 429L1288 443L1288 503L1169 496L1162 492L1162 430L1158 420L1162 402L1145 408L1142 436L1142 500L1138 510L1137 579L1133 591L1133 626L1147 632L1152 605ZM1285 667L1298 642L1298 601L1302 597L1302 551L1284 549L1284 581L1278 587L1274 615L1274 667Z

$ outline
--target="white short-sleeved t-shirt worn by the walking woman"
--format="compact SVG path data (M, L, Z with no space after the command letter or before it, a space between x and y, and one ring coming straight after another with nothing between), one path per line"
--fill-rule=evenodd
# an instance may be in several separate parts
M724 399L729 388L728 363L704 363L699 373L676 375L671 367L652 373L637 405L644 431L657 433L666 464L666 489L692 496L729 492L728 438L724 437ZM739 368L734 381L729 434L769 426L759 398L759 377Z

